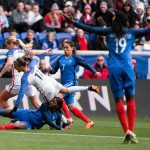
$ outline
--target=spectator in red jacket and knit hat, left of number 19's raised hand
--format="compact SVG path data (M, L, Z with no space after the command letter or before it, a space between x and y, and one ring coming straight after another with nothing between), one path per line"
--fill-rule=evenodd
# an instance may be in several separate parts
M62 15L56 3L52 5L51 12L44 17L44 24L47 30L61 31Z

